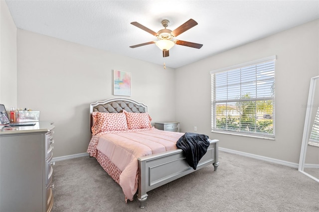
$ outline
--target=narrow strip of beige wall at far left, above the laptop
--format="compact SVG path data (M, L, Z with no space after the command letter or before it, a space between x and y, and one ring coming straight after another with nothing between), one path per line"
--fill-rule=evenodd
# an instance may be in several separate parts
M0 103L17 103L16 27L5 1L0 1Z

